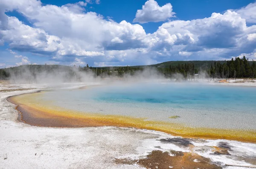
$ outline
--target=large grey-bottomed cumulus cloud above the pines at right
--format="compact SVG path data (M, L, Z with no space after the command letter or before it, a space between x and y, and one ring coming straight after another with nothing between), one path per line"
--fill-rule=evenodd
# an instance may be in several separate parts
M236 47L237 37L246 29L245 20L229 10L223 15L213 13L209 18L192 21L192 24L195 25L192 32L202 31L198 32L198 45L207 48Z

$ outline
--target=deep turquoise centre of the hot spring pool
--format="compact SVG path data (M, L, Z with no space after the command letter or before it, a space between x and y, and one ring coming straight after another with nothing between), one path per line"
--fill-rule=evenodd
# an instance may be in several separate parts
M109 103L148 103L180 108L218 108L256 113L256 87L149 83L111 86L93 91L92 99Z

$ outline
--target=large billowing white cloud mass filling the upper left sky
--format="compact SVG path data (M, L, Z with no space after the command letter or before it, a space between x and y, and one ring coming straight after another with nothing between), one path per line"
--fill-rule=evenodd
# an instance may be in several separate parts
M113 20L105 20L101 15L95 12L84 13L80 11L76 13L73 8L72 10L70 9L71 5L58 7L53 5L42 6L38 1L35 3L36 4L33 4L33 8L30 8L30 6L26 6L24 1L24 4L17 8L17 10L28 17L29 20L34 21L33 25L35 28L22 25L21 23L19 25L23 26L23 29L25 28L29 29L29 31L41 33L42 41L33 44L42 47L47 46L44 47L44 49L51 48L52 51L50 52L52 52L53 55L59 52L59 54L62 55L74 54L75 56L76 53L78 53L77 55L80 56L83 53L88 54L90 51L93 51L93 54L97 54L96 56L98 56L99 52L102 55L102 49L125 50L145 46L142 41L146 33L141 25L132 25L126 21L116 23ZM15 20L15 18L9 18L9 20L10 19ZM18 24L14 25L13 23L9 23L9 25L10 24L12 24L14 28L18 28L19 26ZM11 36L11 34L9 35ZM49 37L51 37L51 41L49 41ZM120 45L121 40L116 41L118 40L117 38L122 39L122 45ZM30 42L32 43L32 41ZM58 44L56 42L58 42ZM61 43L59 44L59 42ZM130 47L130 45L133 46ZM17 50L20 49L17 48Z

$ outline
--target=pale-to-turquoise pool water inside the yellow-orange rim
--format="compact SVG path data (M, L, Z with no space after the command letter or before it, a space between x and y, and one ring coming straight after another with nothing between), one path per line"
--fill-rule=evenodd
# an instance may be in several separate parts
M43 95L83 112L128 115L194 127L256 129L256 87L199 83L119 83ZM178 115L180 118L171 119Z

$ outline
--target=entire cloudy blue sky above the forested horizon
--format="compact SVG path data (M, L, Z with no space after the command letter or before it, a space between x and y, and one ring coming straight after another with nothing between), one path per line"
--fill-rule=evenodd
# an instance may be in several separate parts
M0 68L256 60L255 0L0 0Z

